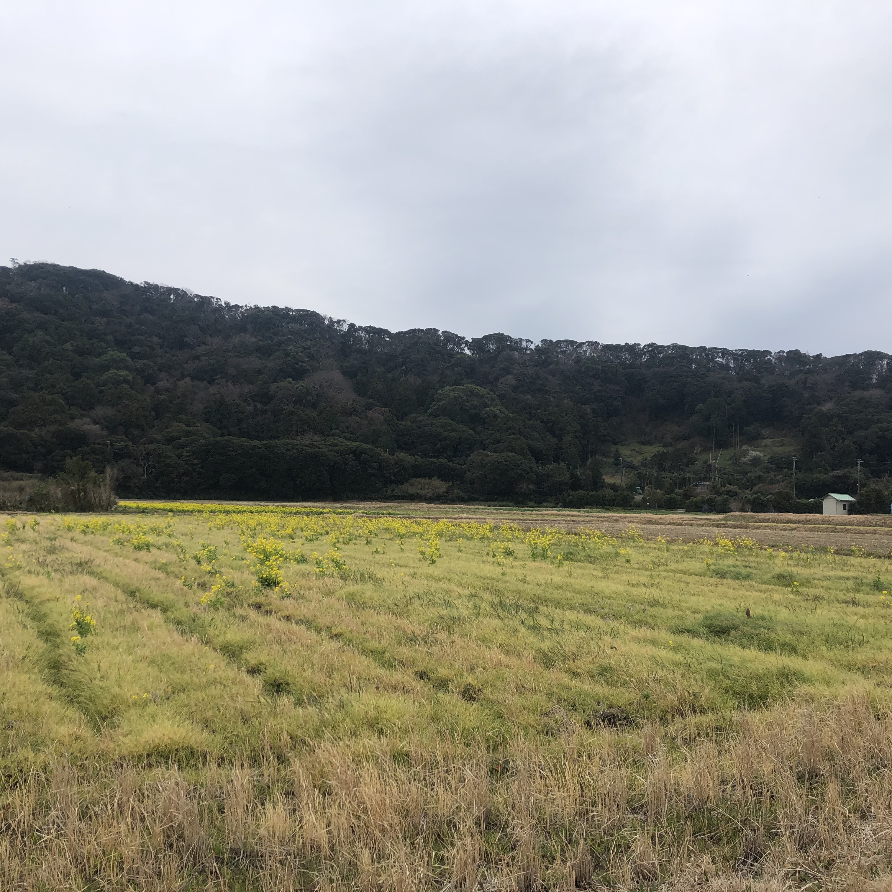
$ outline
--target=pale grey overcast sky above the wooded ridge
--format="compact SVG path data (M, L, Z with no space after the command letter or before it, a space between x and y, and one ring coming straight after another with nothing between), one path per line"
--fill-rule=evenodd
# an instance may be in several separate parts
M0 262L892 352L892 4L0 0Z

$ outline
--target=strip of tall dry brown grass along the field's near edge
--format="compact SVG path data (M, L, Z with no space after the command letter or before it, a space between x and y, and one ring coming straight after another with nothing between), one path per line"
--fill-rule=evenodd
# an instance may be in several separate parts
M889 720L851 696L706 738L693 717L657 740L577 729L548 751L280 740L255 764L61 756L6 780L0 888L886 889Z

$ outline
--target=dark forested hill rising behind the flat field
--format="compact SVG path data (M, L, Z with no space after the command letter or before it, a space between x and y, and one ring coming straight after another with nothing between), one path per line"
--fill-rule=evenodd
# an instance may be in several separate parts
M882 483L890 392L876 351L391 333L0 267L0 467L80 456L131 495L681 505L706 482L719 508L777 507L793 454L800 499L854 491L856 458Z

